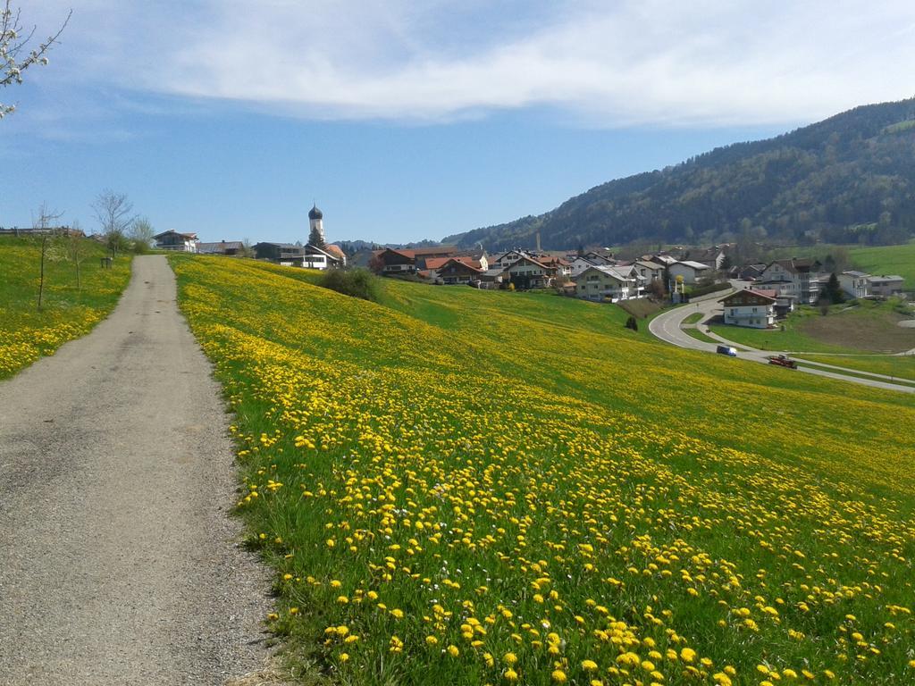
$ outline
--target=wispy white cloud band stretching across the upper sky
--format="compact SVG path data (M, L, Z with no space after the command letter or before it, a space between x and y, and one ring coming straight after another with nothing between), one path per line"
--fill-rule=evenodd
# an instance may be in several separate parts
M910 2L93 0L66 38L58 78L319 119L747 125L915 94Z

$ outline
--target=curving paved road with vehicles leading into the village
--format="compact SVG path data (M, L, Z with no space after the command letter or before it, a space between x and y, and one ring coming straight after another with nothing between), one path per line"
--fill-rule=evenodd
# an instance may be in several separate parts
M732 284L738 288L743 287L742 282L732 282ZM683 330L682 326L684 319L690 315L694 315L696 312L701 312L703 314L702 321L705 321L705 319L708 319L711 316L715 316L716 314L720 314L722 312L722 305L718 301L725 297L728 293L730 292L722 291L720 293L708 295L704 298L694 300L689 305L676 307L668 310L667 312L663 312L661 315L658 315L651 320L651 323L649 324L649 330L651 331L651 334L656 338L661 338L663 341L666 341L674 346L678 346L680 348L690 348L694 350L705 350L705 352L714 353L718 345L717 343L708 343L703 340L693 338ZM733 343L726 338L717 336L715 333L708 331L707 327L703 327L701 324L699 327L708 337L715 338L722 344L734 346L736 348L746 348L741 349L737 353L738 358L748 359L753 362L761 362L763 364L769 364L768 356L772 354L771 351L767 352L766 350L748 348L745 345ZM838 379L841 381L851 381L852 383L860 383L864 386L871 386L872 388L882 388L889 391L915 393L915 386L884 381L891 379L891 377L883 374L867 374L867 377L869 378L863 378L862 376L853 376L850 373L843 373L844 368L835 365L812 362L810 360L801 358L795 359L797 359L800 365L798 370L808 374L816 374L817 376L829 377L830 379ZM847 371L851 372L854 370ZM854 373L860 375L864 372L854 371Z

